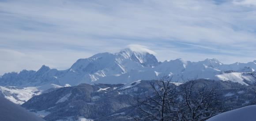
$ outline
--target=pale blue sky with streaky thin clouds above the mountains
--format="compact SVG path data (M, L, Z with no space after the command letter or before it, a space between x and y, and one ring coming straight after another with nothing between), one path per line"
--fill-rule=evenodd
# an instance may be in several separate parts
M159 61L256 60L256 0L0 0L0 75L131 47Z

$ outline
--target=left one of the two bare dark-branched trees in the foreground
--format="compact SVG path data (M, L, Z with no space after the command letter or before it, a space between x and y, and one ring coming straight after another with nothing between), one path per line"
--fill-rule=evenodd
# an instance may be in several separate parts
M151 88L154 95L146 96L145 99L137 99L137 106L141 117L136 120L149 121L169 121L173 118L175 110L176 85L172 82L172 77L161 77L152 81Z

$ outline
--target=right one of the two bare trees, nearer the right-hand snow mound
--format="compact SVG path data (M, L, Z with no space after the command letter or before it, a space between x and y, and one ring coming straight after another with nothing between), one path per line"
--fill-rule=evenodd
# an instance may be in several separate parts
M178 107L178 117L182 121L205 121L222 112L215 88L195 86L196 81L184 81L180 86L182 104Z

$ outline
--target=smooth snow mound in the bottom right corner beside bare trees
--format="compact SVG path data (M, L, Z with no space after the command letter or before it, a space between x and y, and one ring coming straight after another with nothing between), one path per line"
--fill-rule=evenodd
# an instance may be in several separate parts
M255 121L256 105L245 106L211 117L207 121Z

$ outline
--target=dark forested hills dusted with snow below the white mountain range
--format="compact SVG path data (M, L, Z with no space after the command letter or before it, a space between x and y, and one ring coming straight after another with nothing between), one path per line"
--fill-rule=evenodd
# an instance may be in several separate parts
M147 99L149 95L155 95L151 87L153 82L138 80L128 84L79 84L36 95L22 106L44 117L46 121L56 121L56 119L57 121L77 121L78 117L94 121L133 121L135 116L142 114L135 107L138 104L137 99ZM175 84L177 85L176 94L179 94L183 85ZM246 85L206 79L196 80L194 84L194 88L205 87L218 90L220 102L214 105L220 109L225 107L225 110L232 110L251 105L256 99L253 96L254 90L246 88ZM177 96L175 105L182 105L184 98Z

